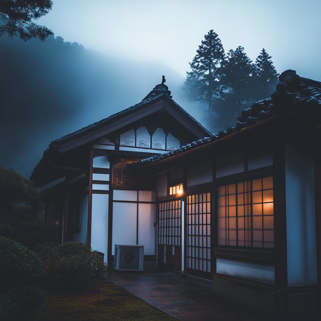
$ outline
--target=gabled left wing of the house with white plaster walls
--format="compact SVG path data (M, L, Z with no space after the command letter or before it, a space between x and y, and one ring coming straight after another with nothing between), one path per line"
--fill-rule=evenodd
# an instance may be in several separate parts
M81 241L109 264L115 244L144 245L145 267L156 268L155 178L129 165L206 136L159 84L142 102L50 143L30 177L46 204L40 218L61 242Z

